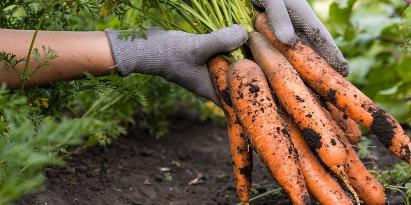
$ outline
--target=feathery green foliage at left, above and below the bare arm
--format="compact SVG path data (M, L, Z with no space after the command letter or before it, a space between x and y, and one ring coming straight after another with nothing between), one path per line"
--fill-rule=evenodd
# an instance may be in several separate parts
M101 117L104 109L115 107L113 104L105 105L104 109L89 107L88 113L73 108L76 103L82 104L74 100L81 93L98 96L92 98L96 105L110 92L128 97L135 104L147 104L134 84L114 74L96 78L85 73L84 79L76 81L32 89L24 87L26 80L58 57L57 51L49 47L33 48L36 33L41 28L65 27L68 20L63 13L80 12L84 8L92 12L91 18L96 16L93 12L97 11L97 3L91 1L6 1L0 4L3 28L35 29L26 57L0 52L0 62L6 65L6 71L17 73L21 79L20 92L7 90L5 84L0 87L0 204L9 204L14 198L38 191L45 179L42 170L63 165L64 159L70 158L68 146L84 144L87 136L105 145L126 133L119 116ZM59 18L62 20L50 20ZM34 19L35 27L22 23L30 19ZM38 65L29 67L30 59ZM25 63L22 71L16 69L20 63ZM121 109L118 111L121 113ZM132 114L129 112L127 116Z

